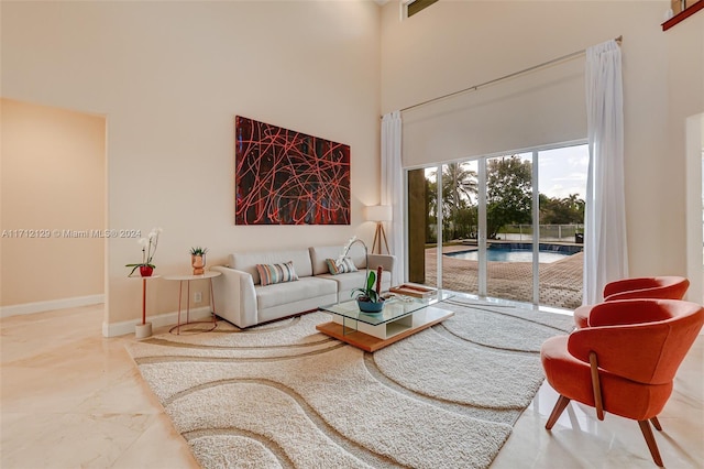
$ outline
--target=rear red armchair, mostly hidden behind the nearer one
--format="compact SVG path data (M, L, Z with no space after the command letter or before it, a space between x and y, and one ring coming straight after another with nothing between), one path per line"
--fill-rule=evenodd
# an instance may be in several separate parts
M682 299L690 281L683 276L649 276L639 279L623 279L606 284L604 287L604 301L634 298L661 298ZM580 306L574 310L574 324L576 327L586 327L590 324L590 313L594 305Z

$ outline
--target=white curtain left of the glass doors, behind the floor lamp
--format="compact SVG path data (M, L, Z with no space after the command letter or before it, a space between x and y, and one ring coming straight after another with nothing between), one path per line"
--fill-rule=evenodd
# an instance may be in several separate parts
M388 248L396 255L396 265L392 282L398 285L405 281L406 265L404 242L404 178L400 162L400 111L394 111L382 118L382 205L393 207L393 219L386 231Z

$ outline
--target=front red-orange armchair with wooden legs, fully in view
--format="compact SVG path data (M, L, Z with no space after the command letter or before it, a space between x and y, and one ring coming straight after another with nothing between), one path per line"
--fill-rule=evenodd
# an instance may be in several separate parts
M540 358L560 394L547 429L570 401L638 421L654 462L662 467L650 423L672 393L672 381L704 324L701 305L676 299L623 299L595 305L590 327L546 340Z

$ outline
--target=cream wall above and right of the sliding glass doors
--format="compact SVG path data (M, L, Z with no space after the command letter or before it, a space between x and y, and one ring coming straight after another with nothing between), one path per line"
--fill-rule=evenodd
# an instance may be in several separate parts
M704 14L662 32L667 8L666 1L446 1L402 22L389 2L382 13L382 110L623 35L630 274L685 274L684 119L704 109ZM583 63L584 56L404 112L405 164L586 138Z

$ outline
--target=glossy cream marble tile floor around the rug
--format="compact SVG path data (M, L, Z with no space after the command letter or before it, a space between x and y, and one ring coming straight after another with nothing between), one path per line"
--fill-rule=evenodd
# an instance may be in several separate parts
M124 345L101 336L102 305L0 320L0 467L197 468ZM155 330L164 332L167 328ZM492 468L654 468L635 422L570 404L544 429L543 384ZM680 368L656 432L668 468L704 467L704 337Z

